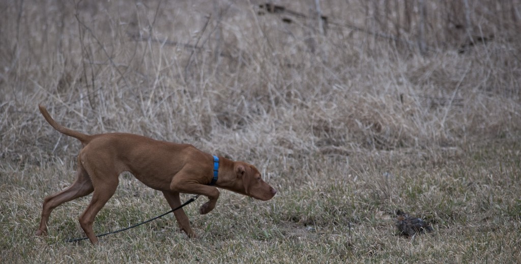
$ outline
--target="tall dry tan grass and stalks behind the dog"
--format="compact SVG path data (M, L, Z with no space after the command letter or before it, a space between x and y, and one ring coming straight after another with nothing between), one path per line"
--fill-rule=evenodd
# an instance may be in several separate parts
M515 1L471 3L468 21L466 1L424 3L423 21L412 1L327 2L324 35L307 2L262 16L259 3L4 2L2 155L53 145L38 103L82 131L203 140L240 156L250 150L232 150L230 135L309 154L519 129Z

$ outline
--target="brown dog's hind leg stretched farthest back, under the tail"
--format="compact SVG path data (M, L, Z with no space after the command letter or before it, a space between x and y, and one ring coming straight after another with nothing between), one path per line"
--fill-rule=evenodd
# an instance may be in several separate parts
M45 197L42 209L42 219L40 221L40 227L38 228L38 231L36 231L36 235L47 234L47 222L49 220L49 215L51 215L51 211L54 208L65 202L69 202L70 200L88 195L92 193L92 191L94 191L94 187L92 186L89 174L80 162L78 170L76 171L75 182L65 190Z

